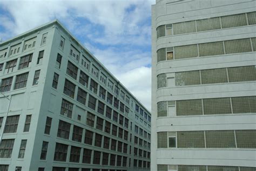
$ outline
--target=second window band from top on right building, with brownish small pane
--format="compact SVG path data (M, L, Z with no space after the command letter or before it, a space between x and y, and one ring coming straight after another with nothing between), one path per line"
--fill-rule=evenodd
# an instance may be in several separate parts
M161 48L157 50L157 62L253 51L256 51L255 37Z

